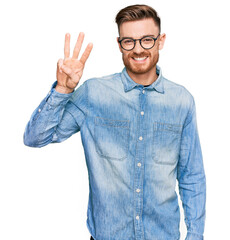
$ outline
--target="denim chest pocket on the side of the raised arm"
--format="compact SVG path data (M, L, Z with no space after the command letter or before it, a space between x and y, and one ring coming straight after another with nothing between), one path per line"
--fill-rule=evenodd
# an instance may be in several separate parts
M96 151L113 160L123 160L128 154L129 121L96 117L94 119Z

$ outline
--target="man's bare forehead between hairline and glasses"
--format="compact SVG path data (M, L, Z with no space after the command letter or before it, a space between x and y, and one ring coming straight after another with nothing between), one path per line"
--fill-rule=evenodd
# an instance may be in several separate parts
M120 25L120 37L139 38L145 35L154 35L159 33L159 28L152 18L124 22Z

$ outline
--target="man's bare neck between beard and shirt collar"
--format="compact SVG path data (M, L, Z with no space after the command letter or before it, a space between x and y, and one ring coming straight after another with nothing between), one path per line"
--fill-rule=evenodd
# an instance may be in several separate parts
M132 80L138 84L141 85L150 85L153 82L155 82L158 78L158 75L156 73L156 66L154 68L152 68L150 71L146 72L146 73L133 73L131 71L129 71L128 69L127 73L128 75L132 78Z

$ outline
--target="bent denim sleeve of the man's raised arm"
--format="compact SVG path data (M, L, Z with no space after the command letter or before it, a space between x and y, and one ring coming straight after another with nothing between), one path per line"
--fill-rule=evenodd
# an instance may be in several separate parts
M43 147L62 142L80 131L87 116L87 90L84 82L74 92L51 91L33 112L26 125L23 140L26 146Z

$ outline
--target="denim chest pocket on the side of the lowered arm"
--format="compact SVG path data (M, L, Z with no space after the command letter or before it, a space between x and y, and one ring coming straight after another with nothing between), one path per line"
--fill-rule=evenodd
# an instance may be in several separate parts
M182 125L155 122L153 125L153 160L174 165L180 152Z

